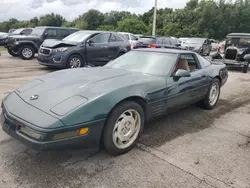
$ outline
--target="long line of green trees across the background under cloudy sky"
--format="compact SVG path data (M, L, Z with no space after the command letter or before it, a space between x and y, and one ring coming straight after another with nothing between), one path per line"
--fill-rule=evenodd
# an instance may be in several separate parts
M47 14L28 21L0 22L0 31L36 26L66 26L83 30L124 31L151 35L154 8L144 14L89 10L73 21ZM250 0L190 0L183 9L157 10L157 35L224 39L231 32L250 32Z

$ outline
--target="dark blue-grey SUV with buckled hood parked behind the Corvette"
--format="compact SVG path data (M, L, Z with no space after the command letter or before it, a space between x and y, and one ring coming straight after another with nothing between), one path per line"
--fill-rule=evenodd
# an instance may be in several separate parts
M46 40L38 61L58 68L103 66L130 50L129 41L116 32L78 31L61 41Z

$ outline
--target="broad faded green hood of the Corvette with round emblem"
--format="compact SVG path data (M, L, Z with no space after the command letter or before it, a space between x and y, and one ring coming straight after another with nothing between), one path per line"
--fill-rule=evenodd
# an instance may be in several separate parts
M141 77L143 79L139 79ZM15 92L26 103L51 114L53 107L72 97L93 100L119 87L138 83L138 80L147 82L148 77L103 67L67 69L39 77ZM37 99L32 100L32 96Z

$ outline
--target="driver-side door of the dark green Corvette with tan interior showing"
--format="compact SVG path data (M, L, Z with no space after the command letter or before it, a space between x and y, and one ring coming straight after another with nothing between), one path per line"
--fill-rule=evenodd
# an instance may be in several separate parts
M175 111L201 100L208 84L206 72L201 69L195 54L181 54L177 63L180 60L187 61L191 76L175 79L173 75L177 70L173 70L172 76L167 80L168 112Z

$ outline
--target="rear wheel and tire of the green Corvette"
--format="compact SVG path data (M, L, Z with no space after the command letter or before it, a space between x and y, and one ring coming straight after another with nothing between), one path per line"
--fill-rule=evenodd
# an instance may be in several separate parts
M215 89L214 87L216 87L217 93L215 95L213 102L211 102L210 101L210 99L211 99L210 94L211 94L212 90ZM215 108L215 106L219 100L219 97L220 97L220 88L221 88L220 80L218 78L214 78L212 81L212 84L211 84L211 86L206 94L206 97L201 101L203 108L205 108L207 110L212 110Z

